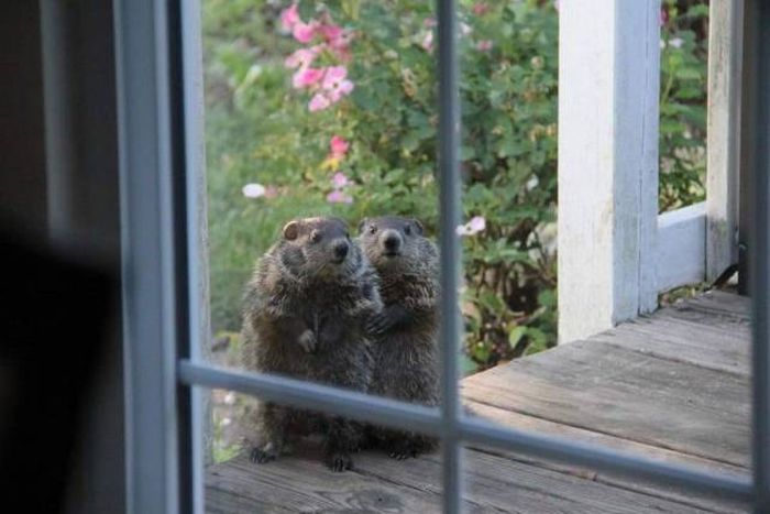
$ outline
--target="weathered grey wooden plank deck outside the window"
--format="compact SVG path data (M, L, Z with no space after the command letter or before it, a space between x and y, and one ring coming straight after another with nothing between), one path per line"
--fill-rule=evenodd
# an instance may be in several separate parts
M750 466L748 300L712 292L463 382L505 425L723 472ZM336 474L312 441L266 466L207 472L209 512L440 512L440 457L362 452ZM748 512L706 494L492 449L466 451L470 512Z

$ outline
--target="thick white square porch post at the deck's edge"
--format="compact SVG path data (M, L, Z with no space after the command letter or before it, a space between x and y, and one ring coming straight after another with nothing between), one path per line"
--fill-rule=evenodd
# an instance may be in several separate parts
M559 341L657 304L660 0L562 0Z

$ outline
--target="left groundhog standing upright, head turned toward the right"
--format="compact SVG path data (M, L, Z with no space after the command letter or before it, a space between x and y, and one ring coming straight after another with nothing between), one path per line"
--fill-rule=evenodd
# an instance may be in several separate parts
M381 308L376 272L342 220L290 221L246 285L243 365L365 391L372 370L365 324ZM352 468L361 437L353 422L272 402L260 402L250 422L255 462L278 457L289 438L320 430L328 466Z

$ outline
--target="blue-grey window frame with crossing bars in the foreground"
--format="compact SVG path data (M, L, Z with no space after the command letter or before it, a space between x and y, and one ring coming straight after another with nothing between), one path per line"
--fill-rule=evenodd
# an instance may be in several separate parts
M201 270L190 259L195 243L189 237L200 230L196 216L200 184L196 174L201 173L204 145L200 6L197 0L117 1L129 512L204 512L200 391L210 387L439 436L447 513L462 510L462 444L711 491L751 502L755 512L770 512L767 92L760 95L755 143L754 479L468 418L459 408L458 390L461 325L455 306L461 250L454 236L460 220L455 1L437 0L437 8L441 284L446 293L441 303L443 403L441 408L428 408L282 376L233 372L201 361L196 327L206 307L190 294L197 291ZM770 61L770 8L760 6L759 11L756 23L763 43L759 52ZM760 66L758 84L770 84L769 66ZM188 77L184 84L182 76Z

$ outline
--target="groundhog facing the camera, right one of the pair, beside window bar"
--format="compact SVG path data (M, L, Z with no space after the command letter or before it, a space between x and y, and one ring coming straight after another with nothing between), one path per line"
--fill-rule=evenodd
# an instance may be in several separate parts
M439 253L415 219L364 219L359 243L377 270L383 310L367 322L374 370L370 393L439 404ZM370 427L369 444L396 459L437 447L437 439Z

